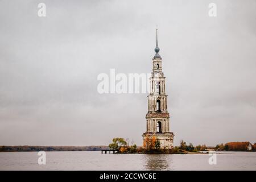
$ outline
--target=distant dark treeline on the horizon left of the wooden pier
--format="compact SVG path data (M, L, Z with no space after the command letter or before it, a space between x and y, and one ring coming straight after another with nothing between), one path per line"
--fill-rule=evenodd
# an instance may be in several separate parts
M0 146L0 152L30 151L100 151L108 146Z

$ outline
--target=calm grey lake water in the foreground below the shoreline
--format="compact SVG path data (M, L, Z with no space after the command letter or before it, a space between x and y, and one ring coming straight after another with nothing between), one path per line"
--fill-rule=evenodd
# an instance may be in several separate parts
M220 152L217 164L208 154L101 154L99 151L0 152L0 170L256 170L256 152Z

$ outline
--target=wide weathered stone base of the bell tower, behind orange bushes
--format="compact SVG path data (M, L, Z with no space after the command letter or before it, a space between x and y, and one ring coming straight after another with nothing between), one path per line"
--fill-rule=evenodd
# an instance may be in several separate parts
M155 137L156 140L160 142L160 148L173 148L174 147L174 133L172 132L165 132L165 133L143 133L143 143L146 140L146 138L152 138Z

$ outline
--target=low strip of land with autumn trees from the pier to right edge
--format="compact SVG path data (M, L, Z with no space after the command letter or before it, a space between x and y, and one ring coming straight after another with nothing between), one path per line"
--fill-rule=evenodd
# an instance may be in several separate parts
M205 144L193 146L181 140L180 146L173 148L162 147L156 137L146 138L143 146L137 147L133 142L130 144L129 139L113 138L113 143L109 144L110 150L115 154L202 154L209 151L256 151L256 143L250 142L229 142L226 144L217 144L216 147L207 147Z

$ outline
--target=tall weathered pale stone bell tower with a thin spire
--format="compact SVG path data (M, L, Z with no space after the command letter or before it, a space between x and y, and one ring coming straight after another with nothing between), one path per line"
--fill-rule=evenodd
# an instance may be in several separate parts
M143 143L146 137L155 138L161 148L174 147L174 133L170 132L170 114L167 110L166 77L162 72L162 57L159 55L158 29L156 29L155 56L152 59L153 69L150 77L150 94L146 114L146 132L142 134Z

